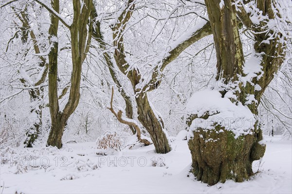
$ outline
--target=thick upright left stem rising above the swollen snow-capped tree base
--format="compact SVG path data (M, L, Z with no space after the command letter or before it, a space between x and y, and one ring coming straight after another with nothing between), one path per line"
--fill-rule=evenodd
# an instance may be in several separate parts
M217 80L224 79L228 83L237 79L236 73L242 69L244 55L237 29L237 16L232 0L205 0L211 23L217 56Z

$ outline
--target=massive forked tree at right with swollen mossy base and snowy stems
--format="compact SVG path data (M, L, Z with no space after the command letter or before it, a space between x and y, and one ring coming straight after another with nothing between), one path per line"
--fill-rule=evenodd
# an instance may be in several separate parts
M210 130L202 126L193 128L194 137L188 142L193 160L192 173L210 185L227 179L241 182L253 175L252 162L263 157L265 152L265 145L259 143L262 131L257 107L285 57L286 38L279 28L270 26L281 17L276 13L277 1L241 3L236 0L205 0L217 53L216 79L221 83L219 100L228 99L235 111L240 111L239 107L250 111L249 115L254 115L252 119L255 121L248 133L240 133L239 137L235 134L238 127L230 130L218 121L212 121L213 129ZM256 22L251 20L252 14L258 16ZM253 56L246 62L238 32L241 22L255 38ZM202 116L191 115L188 123L191 125L196 119L207 121L214 115L220 117L224 110L206 110Z

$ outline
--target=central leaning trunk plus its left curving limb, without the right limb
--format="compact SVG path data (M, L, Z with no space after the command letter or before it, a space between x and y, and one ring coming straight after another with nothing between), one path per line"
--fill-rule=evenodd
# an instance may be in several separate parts
M138 107L138 120L149 132L151 140L155 146L157 153L165 154L171 150L169 142L167 140L164 124L162 119L156 117L154 110L149 105L147 99L147 92L141 92L136 90L136 85L141 80L141 75L137 69L128 71L129 64L126 60L125 48L123 43L123 31L126 28L128 20L131 18L132 11L135 4L133 0L128 0L126 9L121 13L118 18L118 22L112 26L113 45L116 47L114 50L114 59L120 71L127 75L130 80L134 93L136 95L136 103ZM139 95L137 96L137 94Z

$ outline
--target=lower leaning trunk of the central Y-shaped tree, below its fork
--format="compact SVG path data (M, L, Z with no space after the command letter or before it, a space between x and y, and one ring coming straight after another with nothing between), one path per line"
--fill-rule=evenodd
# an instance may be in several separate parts
M147 93L136 97L138 106L138 120L150 134L150 138L155 146L156 153L166 154L171 148L165 134L164 123L159 118L155 110L152 109L148 101Z

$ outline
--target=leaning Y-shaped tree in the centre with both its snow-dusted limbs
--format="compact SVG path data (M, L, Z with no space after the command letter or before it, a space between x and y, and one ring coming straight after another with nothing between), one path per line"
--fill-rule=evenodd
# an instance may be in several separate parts
M159 116L158 112L156 112L149 102L147 92L158 88L165 67L175 60L187 47L201 38L210 35L211 27L208 21L204 21L202 25L197 27L196 30L183 39L183 41L178 42L177 45L169 51L169 54L155 64L151 79L147 81L141 78L138 68L131 68L131 62L127 61L127 53L124 47L125 30L133 11L135 10L136 3L137 2L134 0L128 0L123 7L123 10L120 11L120 15L117 16L117 21L110 26L113 37L113 56L119 70L126 75L131 82L138 108L137 113L139 122L142 123L150 134L156 152L167 153L171 150L171 147L165 134L164 122L162 117ZM143 87L138 86L141 84Z

